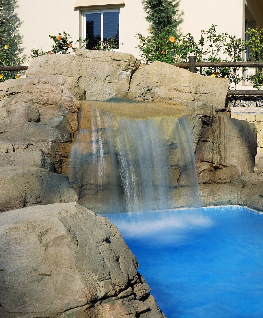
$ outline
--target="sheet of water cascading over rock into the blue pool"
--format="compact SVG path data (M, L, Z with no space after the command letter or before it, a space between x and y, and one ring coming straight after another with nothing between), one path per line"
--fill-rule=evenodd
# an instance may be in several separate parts
M124 118L94 107L89 118L80 114L71 151L70 181L80 204L107 213L171 208L167 117ZM186 116L173 121L180 177L190 180L193 202L200 206L189 123Z

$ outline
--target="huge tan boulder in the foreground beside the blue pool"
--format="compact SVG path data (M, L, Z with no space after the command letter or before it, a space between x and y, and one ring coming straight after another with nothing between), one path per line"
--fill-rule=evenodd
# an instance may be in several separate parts
M60 203L0 220L1 317L165 317L108 218Z

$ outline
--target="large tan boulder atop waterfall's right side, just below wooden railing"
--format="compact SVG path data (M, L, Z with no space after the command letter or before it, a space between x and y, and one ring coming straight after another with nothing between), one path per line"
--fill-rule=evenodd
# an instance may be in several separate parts
M155 61L133 75L128 99L140 101L202 101L225 112L229 80L200 76L173 65Z

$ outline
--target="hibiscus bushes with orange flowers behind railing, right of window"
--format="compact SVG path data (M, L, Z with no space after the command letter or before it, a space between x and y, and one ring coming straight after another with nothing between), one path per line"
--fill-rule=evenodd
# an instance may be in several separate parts
M148 37L138 33L137 38L140 40L139 55L146 64L154 61L185 63L190 55L195 55L198 62L242 61L248 46L241 38L228 33L218 34L214 24L208 30L201 31L198 42L190 33L173 36L161 32ZM198 69L198 73L230 79L235 87L243 79L243 73L238 67L206 67Z

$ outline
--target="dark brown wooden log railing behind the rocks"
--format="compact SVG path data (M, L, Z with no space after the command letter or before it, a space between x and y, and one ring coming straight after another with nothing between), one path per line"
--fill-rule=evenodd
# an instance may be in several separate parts
M198 67L263 67L263 62L197 62L195 56L189 57L188 63L172 63L180 68L189 68L189 72L196 73ZM1 66L0 72L3 71L26 71L28 66ZM263 90L232 90L228 95L263 95Z

